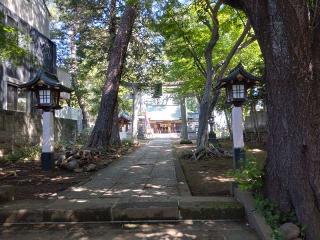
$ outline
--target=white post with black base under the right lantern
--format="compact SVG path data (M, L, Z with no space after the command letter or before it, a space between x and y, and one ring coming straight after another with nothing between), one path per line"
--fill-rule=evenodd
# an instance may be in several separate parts
M232 108L233 167L239 169L245 164L243 140L242 107Z

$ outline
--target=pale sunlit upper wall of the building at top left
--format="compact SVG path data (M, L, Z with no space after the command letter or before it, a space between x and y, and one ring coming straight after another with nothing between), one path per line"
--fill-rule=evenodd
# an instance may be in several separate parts
M50 14L43 0L0 0L0 3L49 38Z

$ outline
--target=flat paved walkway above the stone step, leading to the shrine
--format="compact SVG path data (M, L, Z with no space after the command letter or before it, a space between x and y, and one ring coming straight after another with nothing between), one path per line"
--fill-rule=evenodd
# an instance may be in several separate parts
M59 198L147 199L179 195L172 140L157 139L113 162L86 184L63 192Z

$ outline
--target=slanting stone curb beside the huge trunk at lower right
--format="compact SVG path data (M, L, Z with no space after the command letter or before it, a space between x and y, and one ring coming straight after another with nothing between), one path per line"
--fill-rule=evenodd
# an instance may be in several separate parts
M246 218L261 240L272 240L272 229L265 218L256 210L253 196L248 191L234 189L235 198L241 202L246 211Z

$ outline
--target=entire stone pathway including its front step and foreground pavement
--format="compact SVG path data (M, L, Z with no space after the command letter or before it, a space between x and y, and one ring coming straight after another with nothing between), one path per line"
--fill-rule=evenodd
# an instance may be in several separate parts
M172 141L150 141L57 199L0 205L0 239L257 240L233 198L190 196Z

